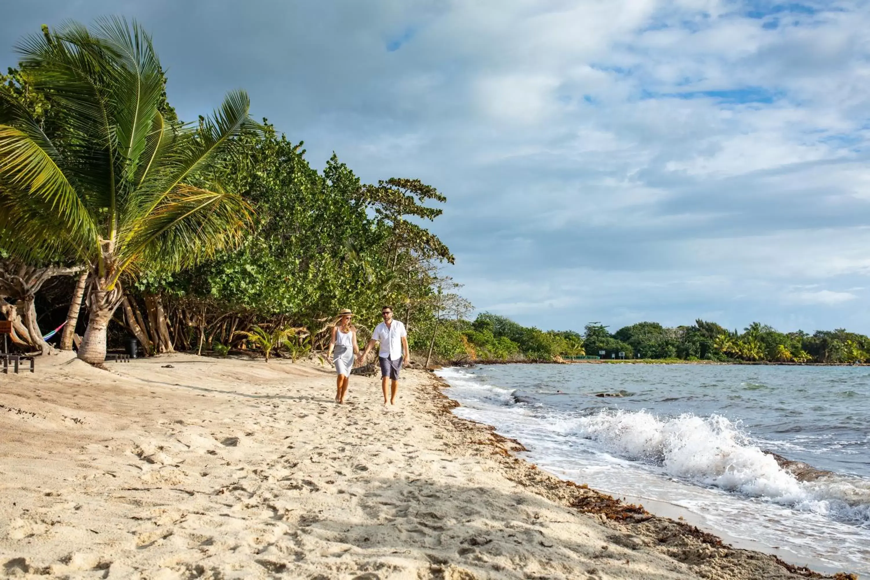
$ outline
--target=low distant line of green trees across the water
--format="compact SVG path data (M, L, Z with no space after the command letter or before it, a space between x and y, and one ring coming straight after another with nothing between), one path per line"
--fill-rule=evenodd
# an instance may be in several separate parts
M490 313L473 322L453 320L438 333L439 352L454 360L545 360L583 355L603 358L680 359L776 363L863 363L870 361L870 338L845 329L780 332L762 323L728 330L696 320L691 326L668 328L643 322L615 332L597 322L583 333L539 330Z

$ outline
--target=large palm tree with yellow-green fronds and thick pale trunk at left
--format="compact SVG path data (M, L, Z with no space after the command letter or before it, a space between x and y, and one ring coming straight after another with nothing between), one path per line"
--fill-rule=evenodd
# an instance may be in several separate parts
M249 207L213 177L244 130L258 130L243 91L212 117L171 123L164 74L137 23L66 23L19 44L22 75L56 110L38 123L0 90L0 226L26 258L71 249L90 271L90 311L78 357L105 358L121 277L173 271L238 242Z

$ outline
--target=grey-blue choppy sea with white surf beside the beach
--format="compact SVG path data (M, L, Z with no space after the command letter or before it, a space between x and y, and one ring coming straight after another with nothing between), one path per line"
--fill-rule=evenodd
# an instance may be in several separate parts
M518 439L559 477L740 547L870 575L868 367L499 364L438 374L458 416ZM827 473L799 479L765 451Z

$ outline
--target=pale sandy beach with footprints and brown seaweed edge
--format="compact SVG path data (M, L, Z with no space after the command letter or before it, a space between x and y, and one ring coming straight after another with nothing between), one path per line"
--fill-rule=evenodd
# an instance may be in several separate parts
M107 369L0 375L0 575L823 577L538 470L424 371L385 407L312 362Z

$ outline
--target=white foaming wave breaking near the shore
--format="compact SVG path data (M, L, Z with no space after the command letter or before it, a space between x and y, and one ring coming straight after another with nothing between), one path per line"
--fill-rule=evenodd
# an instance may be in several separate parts
M831 474L799 481L726 417L602 410L561 427L620 457L656 463L673 477L870 525L870 480Z

